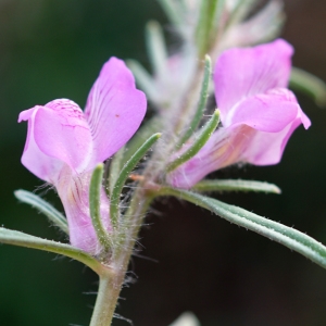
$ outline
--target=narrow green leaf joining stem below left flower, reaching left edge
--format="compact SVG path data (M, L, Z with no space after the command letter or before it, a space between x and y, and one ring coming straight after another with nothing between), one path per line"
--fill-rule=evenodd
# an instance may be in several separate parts
M66 255L76 261L89 266L96 273L100 271L100 263L87 252L74 248L66 243L60 243L35 236L30 236L21 231L0 227L0 242L13 246L21 246L26 248L39 249L43 251L54 252Z

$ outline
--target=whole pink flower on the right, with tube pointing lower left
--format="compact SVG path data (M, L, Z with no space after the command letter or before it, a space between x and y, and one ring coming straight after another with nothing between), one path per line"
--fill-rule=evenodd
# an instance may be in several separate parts
M280 161L293 130L300 124L311 125L286 88L292 53L283 39L222 53L214 71L222 127L192 159L167 175L170 184L187 189L230 164Z

